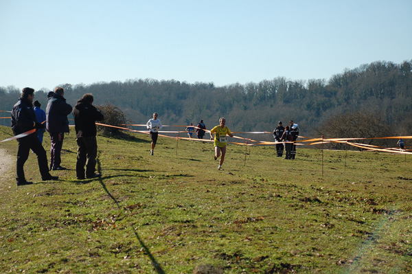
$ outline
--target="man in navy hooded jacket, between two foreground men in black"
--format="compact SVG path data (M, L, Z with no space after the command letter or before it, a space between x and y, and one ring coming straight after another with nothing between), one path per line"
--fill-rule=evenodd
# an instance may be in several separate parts
M50 91L47 97L49 102L46 107L46 129L50 134L52 147L50 148L50 170L65 170L60 164L62 159L63 139L65 133L69 133L69 119L67 115L71 113L72 107L67 104L65 89L56 87L54 92Z

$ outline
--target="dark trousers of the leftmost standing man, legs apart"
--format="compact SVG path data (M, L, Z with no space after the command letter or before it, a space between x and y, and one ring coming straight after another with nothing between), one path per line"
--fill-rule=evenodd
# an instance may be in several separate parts
M37 155L38 169L40 170L41 177L47 178L50 174L49 167L47 166L46 151L41 145L41 142L37 137L37 133L32 133L31 135L20 138L17 141L19 141L16 163L17 182L22 183L25 181L23 166L29 158L30 149Z

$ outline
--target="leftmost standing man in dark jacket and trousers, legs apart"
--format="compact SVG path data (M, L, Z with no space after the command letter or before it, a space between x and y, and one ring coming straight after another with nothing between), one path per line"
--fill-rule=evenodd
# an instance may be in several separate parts
M13 106L12 111L12 130L14 135L20 135L27 131L45 128L44 124L37 122L36 113L33 109L34 89L26 87L21 93L21 98ZM16 162L16 183L17 185L30 185L32 182L28 182L25 179L23 166L25 161L29 157L30 149L37 155L38 169L40 170L41 179L43 181L57 180L58 176L52 176L49 173L49 167L47 165L46 151L41 145L40 140L37 137L36 131L17 139L19 141L19 148L17 150L17 162Z

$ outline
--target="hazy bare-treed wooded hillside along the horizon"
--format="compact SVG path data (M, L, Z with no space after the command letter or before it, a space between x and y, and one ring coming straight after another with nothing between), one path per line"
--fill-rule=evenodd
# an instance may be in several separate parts
M393 127L393 135L410 135L412 129L412 60L373 62L347 69L330 80L277 77L216 87L204 82L134 79L60 86L65 87L71 105L84 93L93 93L95 104L112 103L130 122L139 124L146 123L153 112L159 113L163 124L197 124L203 119L207 128L224 116L233 131L272 131L279 120L286 124L293 119L301 135L310 137L321 135L333 117L368 110L381 115L385 126ZM35 100L43 109L47 92L36 92ZM20 93L15 87L0 87L1 110L11 110ZM10 123L1 120L3 125Z

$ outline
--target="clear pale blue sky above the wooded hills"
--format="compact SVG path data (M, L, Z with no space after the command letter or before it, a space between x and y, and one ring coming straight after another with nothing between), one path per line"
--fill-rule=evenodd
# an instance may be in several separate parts
M0 87L329 80L412 59L411 0L0 0Z

